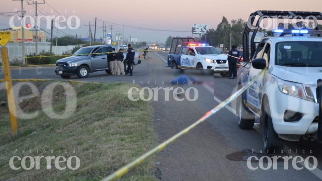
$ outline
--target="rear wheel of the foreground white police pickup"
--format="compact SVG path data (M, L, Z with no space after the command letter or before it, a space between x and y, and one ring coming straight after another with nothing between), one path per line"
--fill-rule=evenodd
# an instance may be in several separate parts
M238 97L237 101L237 119L240 129L252 129L254 127L255 115L244 107L244 100L242 95Z

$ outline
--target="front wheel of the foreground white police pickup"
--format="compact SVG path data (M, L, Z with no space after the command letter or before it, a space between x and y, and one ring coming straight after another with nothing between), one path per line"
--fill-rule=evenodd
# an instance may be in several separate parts
M280 154L285 147L285 141L277 135L274 130L272 118L270 116L270 105L267 104L263 110L262 119L262 136L264 150L268 154Z

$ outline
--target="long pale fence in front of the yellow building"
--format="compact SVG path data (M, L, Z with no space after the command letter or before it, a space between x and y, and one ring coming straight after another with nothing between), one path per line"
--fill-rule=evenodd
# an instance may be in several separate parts
M52 46L52 53L56 55L61 55L63 52L72 50L75 46ZM12 61L13 57L22 57L22 46L6 46L8 48L9 60ZM38 53L41 51L50 51L50 46L41 45L38 46ZM29 55L30 53L35 53L35 46L25 46L25 54ZM22 59L22 58L21 58ZM1 60L1 57L0 57Z

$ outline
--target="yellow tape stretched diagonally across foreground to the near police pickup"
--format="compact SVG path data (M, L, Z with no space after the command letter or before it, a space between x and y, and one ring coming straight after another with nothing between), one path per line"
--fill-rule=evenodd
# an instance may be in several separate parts
M110 174L106 178L102 179L101 181L114 181L118 179L119 177L123 176L124 174L128 173L129 170L132 168L138 166L140 163L142 163L144 160L146 160L148 157L156 154L163 148L166 148L170 143L174 142L177 138L185 135L188 133L190 130L194 129L196 126L204 122L206 119L211 117L213 114L216 114L219 110L223 109L225 106L227 106L229 103L231 103L234 99L236 99L238 96L240 96L247 88L251 86L251 84L256 81L262 73L266 73L266 69L260 71L259 74L257 74L247 85L242 87L242 89L238 90L234 94L232 94L228 99L224 100L222 103L220 103L218 106L213 108L212 110L208 111L202 118L194 122L192 125L189 127L185 128L184 130L180 131L179 133L175 134L165 142L161 143L160 145L156 146L155 148L151 149L147 153L143 154L142 156L138 157L136 160L132 161L131 163L127 164L126 166L118 169L114 173Z

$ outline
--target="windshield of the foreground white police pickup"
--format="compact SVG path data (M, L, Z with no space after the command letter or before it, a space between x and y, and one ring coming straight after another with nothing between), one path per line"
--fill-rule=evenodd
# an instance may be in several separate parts
M275 64L289 67L321 67L322 42L281 42Z

